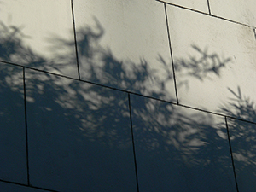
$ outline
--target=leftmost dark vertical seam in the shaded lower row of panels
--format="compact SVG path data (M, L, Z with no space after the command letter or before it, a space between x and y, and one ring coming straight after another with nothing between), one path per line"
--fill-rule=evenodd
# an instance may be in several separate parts
M27 178L27 184L30 185L29 160L28 160L27 117L26 117L26 82L25 82L25 67L22 67L22 70L23 70L23 94L24 94L24 113L25 113L25 131L26 131L26 178Z

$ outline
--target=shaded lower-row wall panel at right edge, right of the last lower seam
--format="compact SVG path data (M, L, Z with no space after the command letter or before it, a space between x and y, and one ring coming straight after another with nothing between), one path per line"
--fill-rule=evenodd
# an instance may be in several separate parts
M255 114L251 115L255 119ZM256 188L256 125L228 119L228 126L238 189L241 192L253 191Z

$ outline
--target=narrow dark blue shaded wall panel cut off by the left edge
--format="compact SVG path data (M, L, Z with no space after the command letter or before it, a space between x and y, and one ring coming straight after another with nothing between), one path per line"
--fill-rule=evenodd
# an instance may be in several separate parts
M26 129L21 67L0 63L0 179L26 180Z

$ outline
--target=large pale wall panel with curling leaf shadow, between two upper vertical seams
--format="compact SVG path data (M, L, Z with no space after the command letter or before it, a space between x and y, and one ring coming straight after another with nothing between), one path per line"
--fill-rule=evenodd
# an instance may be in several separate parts
M163 3L76 0L74 14L82 79L175 97Z

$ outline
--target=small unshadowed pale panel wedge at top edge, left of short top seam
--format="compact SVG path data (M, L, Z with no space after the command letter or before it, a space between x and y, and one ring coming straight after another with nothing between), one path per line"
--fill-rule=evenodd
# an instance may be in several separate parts
M173 3L185 8L199 10L204 13L209 13L207 0L165 0L166 3Z

